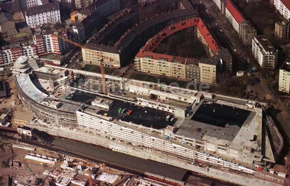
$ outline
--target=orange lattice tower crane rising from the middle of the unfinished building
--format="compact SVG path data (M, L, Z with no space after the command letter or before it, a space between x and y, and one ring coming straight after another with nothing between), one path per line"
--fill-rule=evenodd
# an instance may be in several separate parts
M76 43L76 42L73 42L71 40L68 40L67 38L64 38L64 37L61 37L60 35L57 36L58 38L64 40L65 42L68 42L68 43L71 43L77 47L80 47L81 49L86 49L86 50L89 50L91 51L92 53L94 53L96 56L99 56L100 57L100 66L101 66L101 74L102 74L102 85L103 85L103 92L104 92L104 95L108 95L108 92L107 92L107 83L106 83L106 75L105 75L105 67L104 67L104 64L103 64L103 61L104 59L108 60L108 61L113 61L113 58L107 58L105 56L102 55L102 49L100 48L97 48L95 47L95 49L98 49L100 51L100 53L97 53L91 49L89 49L88 47L84 46L83 44L79 44L79 43Z

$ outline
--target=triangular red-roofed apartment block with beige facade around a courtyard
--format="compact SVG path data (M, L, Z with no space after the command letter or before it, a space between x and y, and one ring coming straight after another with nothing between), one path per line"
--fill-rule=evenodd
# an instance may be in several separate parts
M211 57L199 60L153 52L164 38L191 27L197 29L197 38L204 44ZM184 20L165 28L152 37L135 56L135 69L137 71L196 82L216 83L218 71L222 70L223 67L228 67L231 71L231 66L232 57L229 51L220 49L200 18Z

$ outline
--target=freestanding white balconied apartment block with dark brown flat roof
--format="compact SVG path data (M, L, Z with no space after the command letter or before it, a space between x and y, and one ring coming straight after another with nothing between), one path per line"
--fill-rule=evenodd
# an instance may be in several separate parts
M271 45L265 35L253 39L252 53L262 68L274 69L278 62L278 50Z

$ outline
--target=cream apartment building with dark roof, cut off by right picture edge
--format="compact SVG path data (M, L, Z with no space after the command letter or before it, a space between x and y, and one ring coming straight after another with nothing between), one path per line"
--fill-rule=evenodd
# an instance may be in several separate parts
M290 93L290 56L284 61L279 70L279 91Z

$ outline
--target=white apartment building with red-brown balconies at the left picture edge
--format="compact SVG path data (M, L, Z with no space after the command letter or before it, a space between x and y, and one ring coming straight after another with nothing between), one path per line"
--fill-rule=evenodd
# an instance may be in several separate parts
M33 41L23 43L13 43L1 47L0 64L15 62L19 56L33 57L36 56L36 46Z

